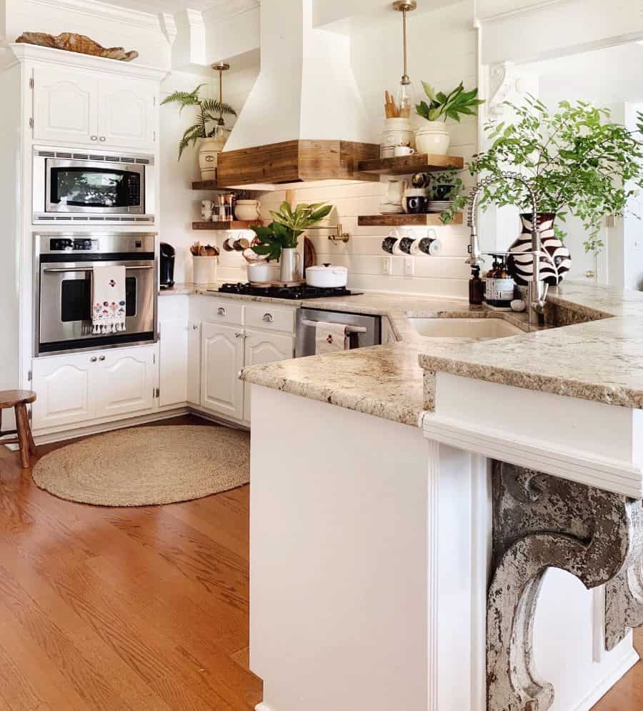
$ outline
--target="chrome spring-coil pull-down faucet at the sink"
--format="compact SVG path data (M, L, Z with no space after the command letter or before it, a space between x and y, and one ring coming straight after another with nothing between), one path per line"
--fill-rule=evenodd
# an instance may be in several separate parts
M547 284L543 284L540 280L540 232L538 231L538 199L536 191L529 184L527 178L519 173L512 173L505 171L499 176L492 176L489 178L482 179L477 183L469 195L469 207L467 209L467 225L471 229L471 235L469 237L469 259L467 259L467 264L472 267L482 264L484 258L482 257L482 252L480 252L480 244L478 241L478 232L476 227L476 208L478 204L478 197L480 191L497 182L498 179L504 180L515 180L520 182L527 188L529 192L529 197L532 202L532 257L534 262L532 281L529 282L528 292L527 292L527 309L529 309L529 324L530 325L542 325L544 322L544 307L547 301Z

